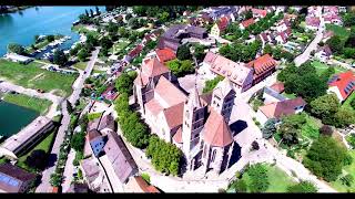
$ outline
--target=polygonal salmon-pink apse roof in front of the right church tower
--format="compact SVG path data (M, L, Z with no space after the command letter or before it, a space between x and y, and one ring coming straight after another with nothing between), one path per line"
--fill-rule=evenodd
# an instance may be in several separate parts
M232 133L224 117L211 109L211 114L204 125L204 142L217 147L225 147L233 143Z

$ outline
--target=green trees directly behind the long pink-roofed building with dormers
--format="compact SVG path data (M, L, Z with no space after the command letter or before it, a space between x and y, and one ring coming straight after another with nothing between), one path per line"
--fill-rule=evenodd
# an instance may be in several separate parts
M262 42L255 40L252 43L232 43L220 48L220 54L234 62L250 62L255 59L256 53L260 52Z

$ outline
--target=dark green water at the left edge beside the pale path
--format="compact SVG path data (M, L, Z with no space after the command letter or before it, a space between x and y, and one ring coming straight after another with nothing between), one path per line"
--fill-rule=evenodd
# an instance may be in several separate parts
M0 102L0 135L10 137L30 124L40 114L7 102Z

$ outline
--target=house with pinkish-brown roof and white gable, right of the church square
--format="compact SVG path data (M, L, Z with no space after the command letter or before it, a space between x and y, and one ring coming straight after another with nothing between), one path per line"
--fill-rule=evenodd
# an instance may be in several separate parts
M267 119L281 118L282 116L301 113L303 112L305 105L306 103L302 97L273 102L258 107L256 118L261 123L261 125L264 125Z

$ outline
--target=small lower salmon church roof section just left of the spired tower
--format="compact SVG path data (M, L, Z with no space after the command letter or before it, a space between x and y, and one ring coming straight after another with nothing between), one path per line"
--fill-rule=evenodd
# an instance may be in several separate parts
M183 119L183 112L184 112L184 103L176 104L169 108L164 108L163 113L166 118L168 126L170 129L182 125Z

